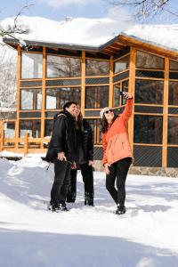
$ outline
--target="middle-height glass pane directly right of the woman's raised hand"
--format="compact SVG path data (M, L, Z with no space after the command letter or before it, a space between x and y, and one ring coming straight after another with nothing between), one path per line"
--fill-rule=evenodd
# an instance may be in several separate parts
M135 102L163 104L163 81L139 80L135 82Z

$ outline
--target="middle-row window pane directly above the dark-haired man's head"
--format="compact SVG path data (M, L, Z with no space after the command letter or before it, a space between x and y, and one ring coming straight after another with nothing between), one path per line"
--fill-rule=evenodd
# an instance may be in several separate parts
M46 90L45 109L62 109L68 101L80 104L81 90L78 87L51 88Z

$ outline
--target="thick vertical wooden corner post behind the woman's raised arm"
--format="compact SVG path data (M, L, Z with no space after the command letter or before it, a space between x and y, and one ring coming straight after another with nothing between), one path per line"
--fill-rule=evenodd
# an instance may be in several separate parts
M136 49L134 47L131 47L128 92L132 93L133 97L135 92L135 64L136 64ZM129 141L131 144L131 148L134 151L134 110L133 110L133 115L128 123L128 132L129 132Z

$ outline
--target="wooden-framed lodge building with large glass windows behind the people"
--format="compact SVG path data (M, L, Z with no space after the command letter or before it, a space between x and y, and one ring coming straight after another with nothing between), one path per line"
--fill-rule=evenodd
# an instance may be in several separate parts
M4 38L18 51L17 109L3 122L1 150L44 152L53 116L77 101L101 160L100 110L122 112L121 90L134 95L134 166L178 167L178 51L124 33L98 47L25 41L28 51Z

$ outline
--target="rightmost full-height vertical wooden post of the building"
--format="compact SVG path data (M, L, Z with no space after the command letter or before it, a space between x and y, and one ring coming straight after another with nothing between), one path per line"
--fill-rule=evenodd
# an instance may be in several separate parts
M168 94L169 94L169 59L165 58L162 167L166 167L167 165L166 159L167 159Z

